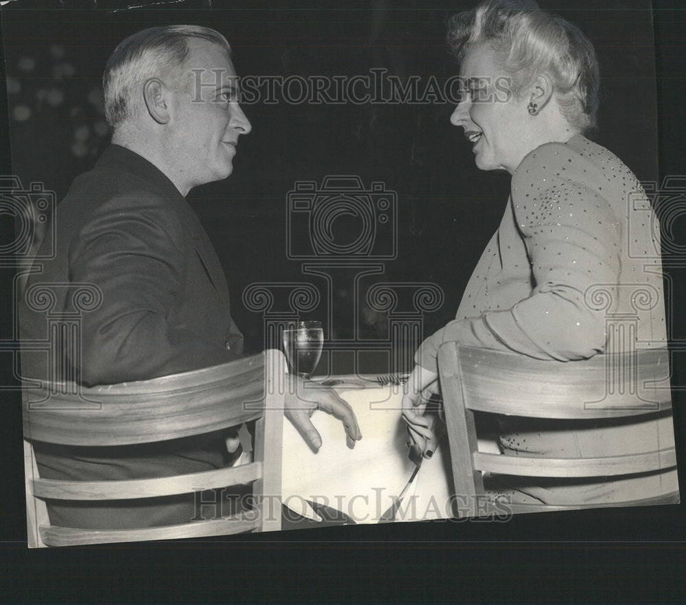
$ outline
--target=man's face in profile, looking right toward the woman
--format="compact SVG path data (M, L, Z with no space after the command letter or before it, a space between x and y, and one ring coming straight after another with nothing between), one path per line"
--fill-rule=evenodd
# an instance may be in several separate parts
M230 175L238 137L251 126L238 104L238 78L226 51L209 40L188 43L188 86L174 97L171 152L182 178L195 187Z

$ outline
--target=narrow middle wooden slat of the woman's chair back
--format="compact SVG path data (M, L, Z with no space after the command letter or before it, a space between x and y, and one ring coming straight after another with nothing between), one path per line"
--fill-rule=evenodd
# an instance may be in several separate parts
M605 458L534 458L533 456L503 456L473 454L474 468L479 471L525 477L603 477L648 473L676 466L676 449L667 447L659 452L606 456Z

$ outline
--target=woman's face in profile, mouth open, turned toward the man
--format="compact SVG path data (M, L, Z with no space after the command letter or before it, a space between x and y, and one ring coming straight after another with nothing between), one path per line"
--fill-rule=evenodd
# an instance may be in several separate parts
M464 128L481 170L506 169L514 173L530 151L526 149L527 101L510 95L510 78L495 63L493 49L482 44L464 55L462 101L450 121Z

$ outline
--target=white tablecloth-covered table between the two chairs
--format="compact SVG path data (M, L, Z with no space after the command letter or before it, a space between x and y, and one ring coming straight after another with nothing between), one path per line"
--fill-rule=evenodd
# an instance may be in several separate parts
M313 452L289 422L283 430L283 504L319 521L307 501L340 510L355 523L378 523L414 471L407 457L407 432L401 417L403 386L373 382L376 377L331 377L344 380L333 388L351 405L362 440L346 445L342 423L316 411L312 423L322 436ZM362 380L361 380L362 379ZM353 382L354 381L354 382ZM488 449L488 444L484 445ZM424 460L395 521L451 517L452 471L445 436L434 455Z

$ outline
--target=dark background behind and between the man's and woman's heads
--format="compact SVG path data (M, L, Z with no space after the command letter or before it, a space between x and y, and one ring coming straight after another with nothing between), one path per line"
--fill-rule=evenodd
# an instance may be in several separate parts
M318 2L288 3L279 10L246 0L213 0L211 9L199 1L182 5L186 8L167 4L116 12L102 8L107 6L102 2L98 10L62 10L59 3L51 10L22 10L24 1L5 6L10 90L19 84L9 96L12 162L24 184L43 182L61 199L73 177L93 165L109 137L99 99L104 64L119 41L140 29L169 23L213 27L232 45L239 75L352 76L385 68L401 77L418 75L426 82L433 75L442 82L457 73L445 45L447 19L472 3L440 0L421 9L408 0L366 0L347 2L346 10ZM653 34L646 1L587 3L592 10L582 10L582 4L562 10L565 5L556 1L547 8L584 29L602 64L593 138L615 151L639 179L656 180ZM618 6L623 10L615 10ZM27 69L32 60L35 66ZM22 121L20 108L31 112ZM462 129L449 123L453 108L283 102L244 107L253 129L240 138L233 175L194 189L189 199L197 202L196 212L224 264L247 351L263 348L262 316L241 304L248 284L299 280L323 289L323 282L303 276L300 262L287 259L286 197L297 180L320 183L326 175L359 175L366 186L383 182L397 192L399 254L385 263L386 274L377 280L435 282L442 288L445 304L425 315L425 335L455 317L466 280L499 225L510 179L475 167ZM346 228L344 220L337 226ZM359 230L354 219L347 227ZM346 319L335 321L327 336L352 336L346 310L353 293L347 282L342 275L333 292L336 316ZM322 312L316 309L313 317ZM383 337L383 317L378 324L363 328Z

